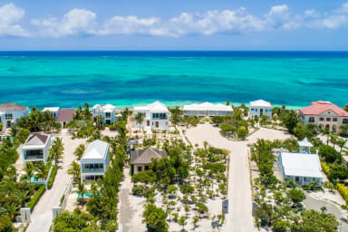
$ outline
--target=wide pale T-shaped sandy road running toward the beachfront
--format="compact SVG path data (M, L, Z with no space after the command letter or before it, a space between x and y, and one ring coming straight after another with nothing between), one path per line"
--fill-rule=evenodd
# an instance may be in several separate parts
M192 145L198 143L202 147L203 141L206 140L214 147L231 150L228 179L229 212L226 215L226 225L223 227L223 231L256 231L252 217L247 144L255 142L258 138L286 139L289 135L283 131L260 129L245 141L231 141L222 137L217 127L210 124L198 124L198 127L187 130L187 136Z

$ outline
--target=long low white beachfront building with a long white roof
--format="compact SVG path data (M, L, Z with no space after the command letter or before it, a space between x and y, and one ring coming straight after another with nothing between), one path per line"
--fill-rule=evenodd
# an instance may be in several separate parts
M184 105L184 116L212 117L232 116L232 114L232 106L221 103L203 102L200 104Z

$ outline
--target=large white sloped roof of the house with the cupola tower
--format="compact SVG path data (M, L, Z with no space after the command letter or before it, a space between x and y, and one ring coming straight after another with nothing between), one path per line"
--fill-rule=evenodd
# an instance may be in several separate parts
M283 152L279 159L286 176L323 178L318 155Z

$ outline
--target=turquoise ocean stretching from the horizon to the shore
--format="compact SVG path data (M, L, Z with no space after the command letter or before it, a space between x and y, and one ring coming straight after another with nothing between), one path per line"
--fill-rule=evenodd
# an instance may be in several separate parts
M0 52L0 102L348 103L347 52Z

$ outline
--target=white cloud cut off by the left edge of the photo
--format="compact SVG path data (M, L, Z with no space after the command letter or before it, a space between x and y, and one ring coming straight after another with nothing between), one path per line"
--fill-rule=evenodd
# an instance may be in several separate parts
M24 17L24 10L13 4L0 6L0 36L29 36L17 24Z

